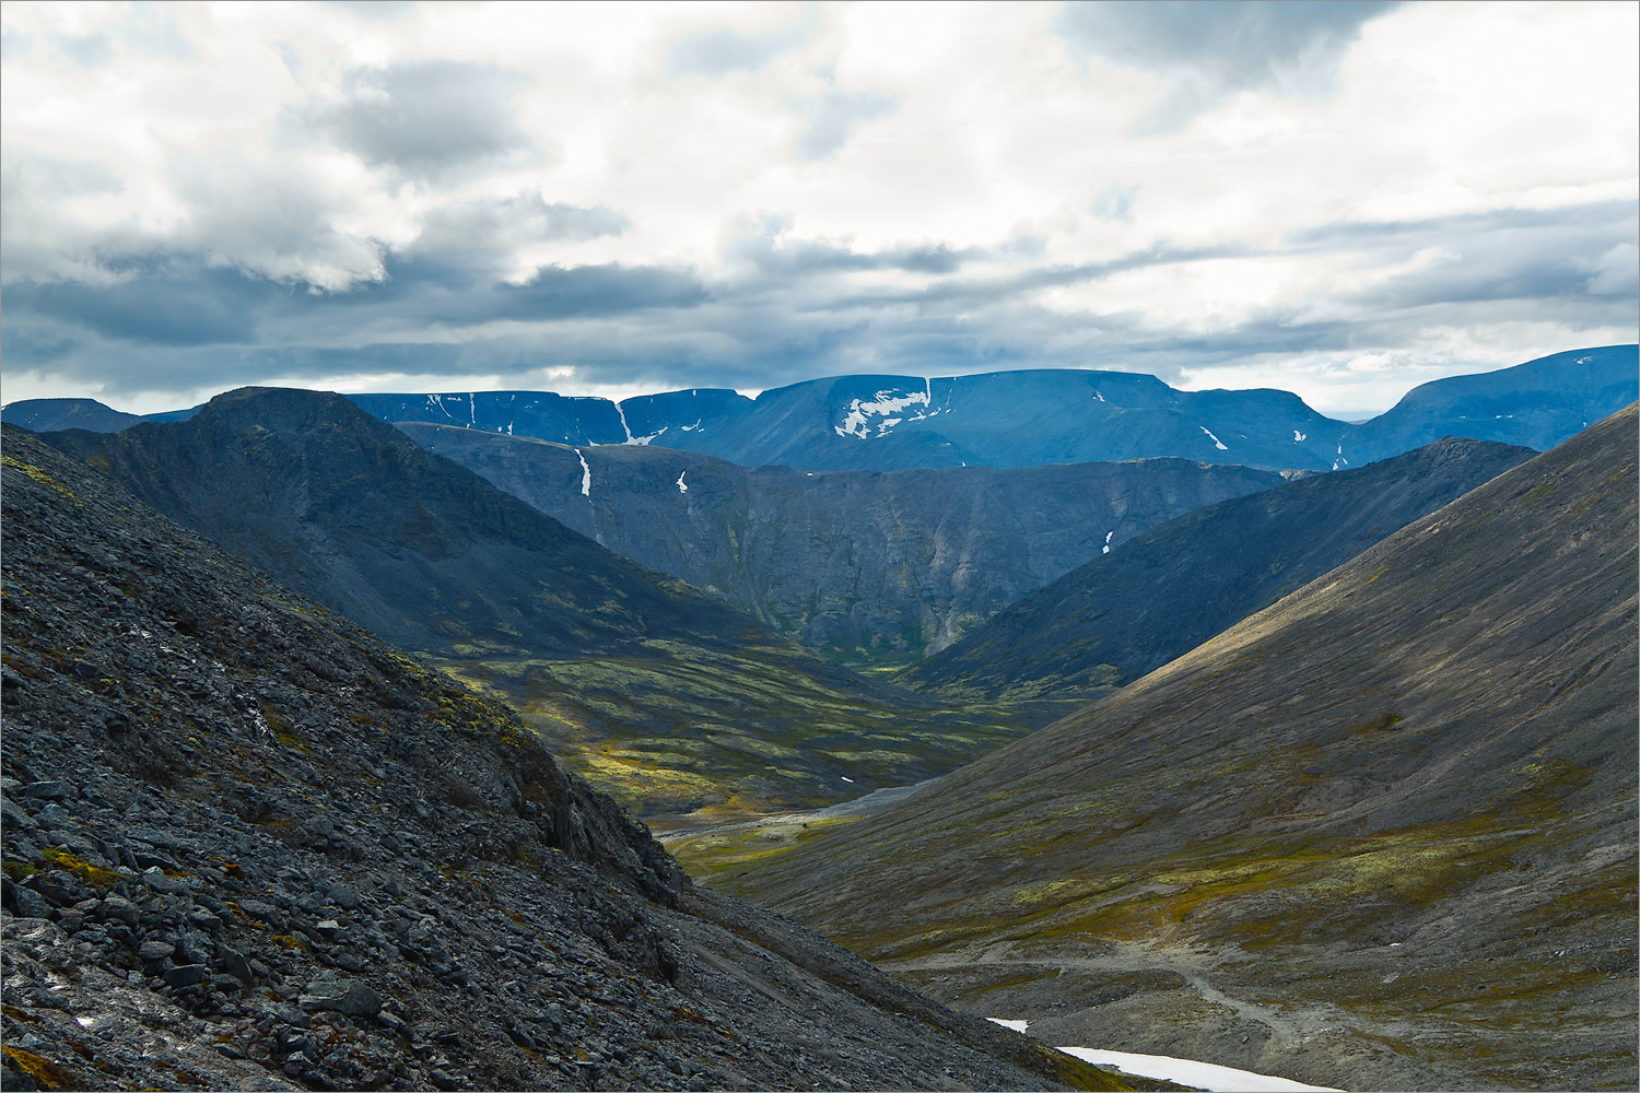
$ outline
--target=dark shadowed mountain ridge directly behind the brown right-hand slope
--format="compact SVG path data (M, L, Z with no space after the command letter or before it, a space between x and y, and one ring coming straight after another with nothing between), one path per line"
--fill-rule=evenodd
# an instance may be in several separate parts
M1094 696L1189 652L1533 454L1446 438L1210 505L1071 570L912 665L900 682L991 698Z

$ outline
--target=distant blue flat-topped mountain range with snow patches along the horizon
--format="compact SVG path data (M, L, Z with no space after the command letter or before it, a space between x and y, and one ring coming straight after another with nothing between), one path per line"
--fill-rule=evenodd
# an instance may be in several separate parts
M758 398L715 388L622 403L548 392L349 398L382 421L461 424L561 444L654 444L748 467L1036 467L1173 456L1335 470L1399 456L1442 436L1553 447L1640 398L1640 347L1574 349L1512 369L1435 380L1361 424L1327 418L1289 392L1181 392L1153 375L1073 369L932 380L843 375ZM82 400L13 403L3 420L71 428L25 420L41 420L51 405L69 401ZM130 424L125 418L82 413L72 426L113 431Z

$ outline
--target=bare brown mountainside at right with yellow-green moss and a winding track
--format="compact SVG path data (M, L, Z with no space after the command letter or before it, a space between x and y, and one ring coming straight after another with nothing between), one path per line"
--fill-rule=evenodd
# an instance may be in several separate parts
M1637 444L1630 406L899 805L690 869L1059 1044L1635 1088Z

